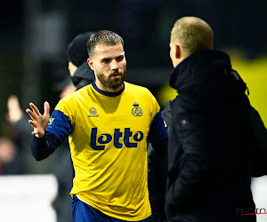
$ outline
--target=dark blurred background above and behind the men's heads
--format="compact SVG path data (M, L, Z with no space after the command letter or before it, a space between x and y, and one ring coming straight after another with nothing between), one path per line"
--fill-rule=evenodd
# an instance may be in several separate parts
M48 100L54 107L69 76L69 42L85 31L110 29L125 40L127 81L156 91L172 68L174 21L197 16L214 29L214 46L235 48L247 59L267 52L264 0L24 0L0 7L0 126L11 94L21 107Z

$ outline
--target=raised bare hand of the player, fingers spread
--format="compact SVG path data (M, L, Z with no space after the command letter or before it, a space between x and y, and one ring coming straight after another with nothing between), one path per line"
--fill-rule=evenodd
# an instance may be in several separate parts
M34 128L34 131L32 131L31 134L35 135L37 138L42 138L44 137L44 132L49 122L49 103L44 102L44 115L40 114L38 108L33 103L29 103L29 106L32 110L27 108L26 113L31 117L31 120L29 120L28 123Z

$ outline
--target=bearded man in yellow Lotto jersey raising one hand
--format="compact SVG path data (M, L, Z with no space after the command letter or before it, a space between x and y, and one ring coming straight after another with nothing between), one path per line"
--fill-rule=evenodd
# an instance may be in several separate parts
M166 166L167 133L158 102L125 82L124 41L101 30L87 42L95 82L61 99L53 114L30 103L31 150L37 161L69 137L75 178L72 215L82 221L149 221L147 142Z

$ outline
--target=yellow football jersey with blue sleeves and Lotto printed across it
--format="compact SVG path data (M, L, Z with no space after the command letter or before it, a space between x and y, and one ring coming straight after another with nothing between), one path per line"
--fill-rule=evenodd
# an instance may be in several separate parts
M93 83L61 99L46 131L69 136L70 194L114 218L148 218L147 139L166 138L163 129L149 133L158 113L150 91L131 83L115 93Z

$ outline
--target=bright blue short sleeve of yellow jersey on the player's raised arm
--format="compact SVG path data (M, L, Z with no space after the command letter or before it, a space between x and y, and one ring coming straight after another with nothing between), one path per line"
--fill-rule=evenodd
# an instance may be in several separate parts
M67 115L55 109L50 119L50 124L46 128L48 133L53 134L56 140L61 142L69 137L69 134L72 132L72 125Z

